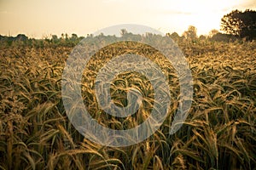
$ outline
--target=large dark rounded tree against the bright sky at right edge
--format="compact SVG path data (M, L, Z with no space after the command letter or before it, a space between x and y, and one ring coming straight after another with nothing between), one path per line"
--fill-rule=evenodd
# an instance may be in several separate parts
M221 30L238 37L256 38L256 11L247 9L244 12L233 10L221 19Z

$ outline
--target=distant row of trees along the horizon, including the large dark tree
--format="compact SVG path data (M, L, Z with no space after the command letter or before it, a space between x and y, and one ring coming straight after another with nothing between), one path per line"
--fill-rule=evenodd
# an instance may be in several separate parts
M197 36L197 29L195 26L189 26L187 31L184 31L182 36L179 36L177 32L166 33L166 37L171 37L174 41L189 41L196 42L197 40L212 40L212 41L236 41L237 39L244 40L254 40L256 39L256 11L251 9L246 9L244 12L240 10L233 10L230 14L225 14L221 19L221 27L220 30L223 32L219 32L218 30L213 29L209 32L208 36ZM145 35L137 35L131 32L126 31L125 29L120 30L121 37L130 37L132 40L139 41L143 37L157 37L158 35L154 35L152 33L146 33ZM106 41L113 41L119 37L113 36L105 36L103 33L100 35L94 36L92 34L88 34L87 37L78 37L77 34L72 34L71 36L62 33L61 37L57 37L56 35L51 35L50 37L44 37L44 42L42 40L35 40L34 38L28 38L24 34L19 34L16 37L6 37L0 35L0 41L7 42L11 45L13 42L25 42L26 44L35 44L39 43L51 43L56 45L69 45L74 46L82 39L87 38L87 41L94 41L95 38L104 38Z

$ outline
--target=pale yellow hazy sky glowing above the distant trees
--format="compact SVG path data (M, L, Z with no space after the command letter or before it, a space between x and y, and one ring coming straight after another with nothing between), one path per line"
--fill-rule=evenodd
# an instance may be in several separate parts
M195 26L198 34L219 29L232 9L256 9L255 0L0 0L0 34L45 37L79 36L119 24L150 26L182 34Z

